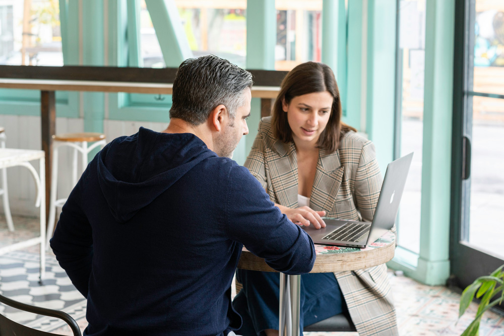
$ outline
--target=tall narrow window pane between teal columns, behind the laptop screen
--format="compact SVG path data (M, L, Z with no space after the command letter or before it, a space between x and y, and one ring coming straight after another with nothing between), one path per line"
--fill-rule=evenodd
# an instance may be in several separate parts
M414 152L401 199L398 243L420 251L420 207L422 186L423 88L425 63L425 0L399 1L399 45L397 57L399 125L396 157Z

